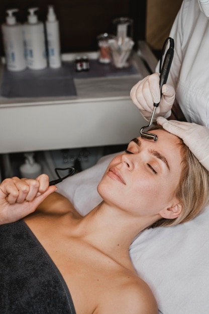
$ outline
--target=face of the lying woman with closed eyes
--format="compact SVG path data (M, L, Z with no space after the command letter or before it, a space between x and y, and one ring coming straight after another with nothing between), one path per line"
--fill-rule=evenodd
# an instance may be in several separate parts
M157 141L137 137L110 163L98 185L108 204L144 216L176 202L182 160L179 139L161 129L154 133Z

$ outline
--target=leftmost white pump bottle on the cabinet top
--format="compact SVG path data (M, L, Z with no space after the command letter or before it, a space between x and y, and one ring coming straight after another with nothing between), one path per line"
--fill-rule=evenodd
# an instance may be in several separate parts
M26 68L23 27L13 16L17 11L18 9L7 10L6 23L2 25L7 69L10 71L22 71Z

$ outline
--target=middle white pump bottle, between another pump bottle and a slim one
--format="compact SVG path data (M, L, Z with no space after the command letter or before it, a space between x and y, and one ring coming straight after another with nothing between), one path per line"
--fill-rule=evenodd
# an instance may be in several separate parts
M34 12L38 8L28 9L28 22L24 24L26 60L29 69L41 70L47 67L44 24L38 21Z

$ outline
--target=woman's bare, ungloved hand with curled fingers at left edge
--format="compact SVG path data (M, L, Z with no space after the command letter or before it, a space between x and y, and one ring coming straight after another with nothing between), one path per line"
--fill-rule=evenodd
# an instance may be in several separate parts
M35 180L5 179L0 184L0 224L17 221L34 212L55 190L55 186L49 187L47 175L40 175Z

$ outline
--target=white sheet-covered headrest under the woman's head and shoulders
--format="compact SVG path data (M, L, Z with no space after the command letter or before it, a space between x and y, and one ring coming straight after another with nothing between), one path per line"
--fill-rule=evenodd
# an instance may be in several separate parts
M101 201L96 187L115 155L66 179L57 192L85 215ZM163 314L209 313L209 208L185 224L143 231L130 255Z

